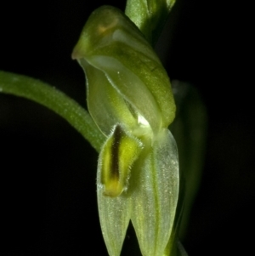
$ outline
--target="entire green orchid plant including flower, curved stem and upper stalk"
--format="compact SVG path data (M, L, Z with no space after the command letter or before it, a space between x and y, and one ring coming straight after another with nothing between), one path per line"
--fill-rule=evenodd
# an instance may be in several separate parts
M151 2L151 4L152 3L153 2ZM127 2L127 15L129 15L137 26L139 26L139 29L144 33L144 36L151 44L155 43L156 37L161 30L162 23L167 18L167 14L173 5L172 2L165 3L164 1L156 3L158 4L155 6L146 6L143 5L144 2L142 1ZM141 10L139 13L136 11L136 4L139 4L139 10ZM149 17L145 15L147 14L148 8L152 9L150 14L152 13L154 15ZM88 107L94 121L74 100L71 100L58 90L32 78L1 72L0 88L3 93L26 97L35 100L42 105L48 106L70 122L74 128L77 128L97 151L100 151L102 145L105 143L99 158L101 164L99 164L98 174L98 182L100 184L98 198L101 225L103 227L108 251L111 255L117 255L120 252L123 236L125 236L129 219L133 220L137 235L139 236L140 247L144 255L161 255L163 252L164 255L169 255L169 253L171 253L171 255L176 253L184 255L182 249L175 251L177 245L175 236L178 233L178 218L181 216L182 197L178 195L179 177L177 151L173 137L167 130L167 126L173 121L175 111L173 95L169 88L169 81L159 60L157 60L156 55L150 48L149 43L146 43L142 36L139 35L139 31L132 25L132 23L130 23L130 21L127 21L127 18L123 18L124 16L121 12L112 8L106 9L108 11L111 10L111 17L115 18L115 15L118 14L120 19L123 19L124 27L121 27L121 30L125 31L126 29L125 32L127 35L124 33L120 34L119 37L121 39L122 37L128 37L128 39L131 38L133 41L131 41L131 45L128 46L129 48L125 48L125 50L122 50L120 45L114 45L114 43L110 41L111 48L107 48L106 50L110 52L112 50L109 56L113 56L114 60L112 58L109 58L108 60L102 58L106 51L103 47L96 48L98 49L96 53L92 51L91 56L86 56L91 49L89 41L85 42L84 46L83 41L81 40L82 43L78 43L78 46L74 51L73 57L79 59L80 64L86 71L88 86L92 84L91 88L95 88L94 91L93 89L90 89L90 93L94 93L92 97L88 95ZM99 11L97 12L100 17L103 16L102 13L99 13ZM127 22L127 26L125 22ZM151 26L152 24L156 26L153 27ZM92 26L99 25L94 21L88 27ZM118 26L116 26L116 28L118 28ZM103 31L105 30L104 27L102 29ZM106 31L108 32L109 30ZM88 33L87 37L85 37L86 40L90 36L93 37L93 31L84 31L84 33ZM96 39L92 38L92 41L98 40L99 36L100 35L95 37ZM102 39L105 40L105 38L107 40L107 37L104 35ZM80 46L80 44L82 44L82 46ZM142 51L144 52L142 53L139 53L140 45L143 47ZM84 56L82 53L83 48L85 48ZM126 53L129 50L131 54L124 55L122 59L118 60L118 55L115 51L120 50L122 50L122 53ZM109 52L107 52L107 54L108 53ZM154 65L154 69L152 70L158 71L158 73L153 73L150 74L150 77L146 77L148 76L146 70L139 70L136 66L132 66L133 63L132 65L130 64L130 61L134 62L135 58L137 58L137 60L143 60L141 59L141 55L143 54L146 57L144 58L144 61L149 63L148 65ZM94 56L99 56L99 58L96 59ZM128 58L130 58L130 60L128 60ZM106 60L107 62L105 62ZM127 71L122 67L121 72L124 77L121 79L117 77L116 74L111 73L112 71L115 71L116 60L118 61L117 65L124 63L123 66L125 65L128 67ZM105 66L102 66L104 63L106 63ZM136 71L140 73L136 73ZM139 80L140 84L137 83L138 80L136 80L136 77L141 77L141 82ZM147 80L145 78L147 78ZM160 81L160 84L155 89L156 80ZM135 94L128 95L128 91L125 91L122 84L125 81L139 84L139 87L133 88ZM107 85L108 88L104 87L98 89L97 86L100 85L100 82L103 82L105 87ZM116 91L120 93L116 94L116 91L113 90L111 86L116 88ZM104 92L104 94L100 96L98 94L101 91ZM109 99L114 100L114 105L111 105L111 101L104 99L105 94L109 95ZM147 99L144 100L144 102L143 100L139 102L139 98L142 97L146 97ZM118 107L116 107L116 102ZM151 107L147 108L147 105L150 105L150 103ZM105 114L101 113L102 110L105 111ZM111 115L107 116L107 113L111 113ZM102 120L104 120L104 122L102 122ZM138 124L136 123L136 120L139 120L139 127L137 127ZM105 125L105 123L107 123L107 125ZM111 129L113 129L112 133L110 133ZM108 139L105 142L106 136ZM118 151L116 154L116 150L112 150L114 148L114 141L117 142L117 145L126 145L123 151L125 151L125 148L127 147L130 148L130 151L128 151L130 154L128 155L126 152L122 154L122 151ZM151 141L153 141L153 143ZM171 155L169 155L170 152L172 152ZM123 158L123 162L127 163L127 166L122 168L122 171L118 170L117 176L121 176L122 179L117 180L116 177L112 177L114 175L111 174L109 160L107 160L107 157L116 157L116 155L119 159ZM162 162L161 159L167 159L167 163ZM162 164L171 166L171 172L167 168L161 168ZM106 168L101 168L105 166ZM133 167L131 168L131 166ZM142 176L144 175L143 178L136 176L139 174L140 169L144 170L144 173L142 174ZM166 173L160 174L158 170L161 169L164 169ZM134 172L134 170L137 171ZM150 178L145 180L148 173L151 174ZM134 180L132 178L128 180L130 175L133 178L144 179L143 184L146 188L153 188L151 193L152 196L148 196L147 202L144 200L142 192L139 192L136 196L133 193L139 184L132 182L132 180ZM163 179L166 178L166 176L168 179ZM158 183L155 182L155 179L153 180L155 177L159 180ZM168 183L164 184L165 180L167 180ZM129 182L129 185L127 185L127 181ZM102 186L102 184L104 186ZM165 187L163 187L164 185ZM103 193L106 195L115 198L103 196L101 189L104 189ZM127 191L127 193L123 191ZM163 193L164 191L167 191L167 195ZM134 196L131 196L132 193ZM151 199L153 199L153 195L156 194L158 195L156 197L157 201L155 200L153 203ZM174 196L171 197L169 196L170 194L173 194ZM165 208L166 205L163 203L166 199L168 202L167 208ZM159 203L160 200L161 203ZM179 203L178 211L176 210L177 202ZM131 213L129 209L132 208L133 205L142 207ZM153 226L153 229L155 230L151 229L151 219L150 221L148 219L139 219L139 216L146 215L146 205L150 205L150 210L154 210L155 214L158 214L156 225ZM159 206L161 206L161 208L159 208ZM121 211L120 208L122 208ZM109 209L118 214L112 215L111 219L119 219L120 222L117 229L119 233L113 231L113 220L111 220L111 223L104 220L104 218L106 219L109 217L107 215ZM170 212L171 214L169 214ZM153 217L155 214L151 214L151 216Z

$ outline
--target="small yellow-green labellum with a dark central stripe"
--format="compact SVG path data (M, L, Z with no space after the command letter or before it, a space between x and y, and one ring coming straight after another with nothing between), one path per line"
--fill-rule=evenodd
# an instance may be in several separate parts
M117 124L99 155L101 184L105 196L119 196L127 190L130 169L143 144Z

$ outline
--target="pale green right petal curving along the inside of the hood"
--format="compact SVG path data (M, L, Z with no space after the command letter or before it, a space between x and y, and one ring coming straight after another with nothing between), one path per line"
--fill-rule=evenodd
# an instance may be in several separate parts
M105 77L122 99L126 100L138 115L150 123L155 133L161 128L161 111L149 88L144 85L138 76L122 65L118 60L108 56L93 56L88 58L91 65L105 73ZM89 88L88 88L89 89ZM108 94L104 89L105 95ZM88 95L88 97L90 97ZM97 96L98 97L98 96ZM124 101L123 101L124 102ZM118 105L115 105L116 109ZM125 122L123 122L126 124ZM129 126L129 128L132 128Z

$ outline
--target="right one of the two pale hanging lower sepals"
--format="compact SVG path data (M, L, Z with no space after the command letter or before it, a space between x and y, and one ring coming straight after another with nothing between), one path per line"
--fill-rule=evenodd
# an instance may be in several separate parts
M162 256L178 202L178 152L169 130L163 129L140 169L133 169L131 220L143 256ZM134 189L135 188L135 189Z

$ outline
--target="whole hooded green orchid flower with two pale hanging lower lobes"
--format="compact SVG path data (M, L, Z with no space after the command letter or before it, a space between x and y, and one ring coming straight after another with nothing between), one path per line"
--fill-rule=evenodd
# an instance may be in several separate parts
M108 253L120 255L131 220L144 256L167 255L179 183L167 72L133 22L109 6L91 14L72 57L86 74L88 111L105 134L97 193Z

